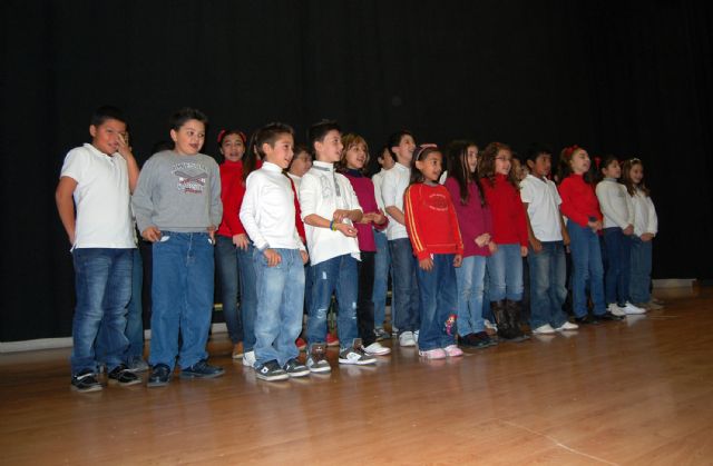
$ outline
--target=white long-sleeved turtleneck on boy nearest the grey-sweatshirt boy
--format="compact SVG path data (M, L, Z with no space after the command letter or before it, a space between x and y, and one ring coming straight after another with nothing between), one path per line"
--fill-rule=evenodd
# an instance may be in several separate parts
M295 227L294 195L290 179L274 163L264 162L245 182L241 221L260 250L305 250Z

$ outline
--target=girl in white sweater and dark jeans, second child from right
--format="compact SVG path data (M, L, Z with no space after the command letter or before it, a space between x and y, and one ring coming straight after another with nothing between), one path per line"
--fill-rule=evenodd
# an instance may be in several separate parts
M604 179L596 188L604 215L604 246L607 268L604 279L607 309L615 316L644 314L646 309L629 303L632 241L634 234L634 205L626 187L618 182L622 176L619 161L607 157L602 166Z

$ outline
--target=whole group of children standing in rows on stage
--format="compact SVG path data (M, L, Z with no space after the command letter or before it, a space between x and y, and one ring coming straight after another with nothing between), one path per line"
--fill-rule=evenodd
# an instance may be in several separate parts
M340 346L340 364L371 365L388 355L380 340L390 337L383 325L389 278L392 331L424 359L461 356L459 345L528 338L524 257L534 334L653 306L656 215L637 159L625 162L624 184L618 161L605 160L595 192L588 155L578 147L563 151L557 187L545 147L528 152L524 176L504 143L481 153L469 141L441 150L417 145L403 130L377 155L381 170L370 178L375 163L367 141L325 120L310 127L309 147L295 147L284 123L264 126L250 143L242 131L223 130L218 167L201 153L206 125L198 110L176 112L173 148L155 153L139 173L124 117L104 107L91 120L92 143L65 160L57 205L76 270L76 390L101 389L99 364L118 385L140 383L136 373L147 368L127 358L131 215L153 244L149 387L167 385L176 364L183 378L224 374L206 353L214 270L233 356L264 380L329 373L332 344ZM563 311L566 248L575 323ZM338 338L330 341L333 297ZM300 337L304 310L306 343Z

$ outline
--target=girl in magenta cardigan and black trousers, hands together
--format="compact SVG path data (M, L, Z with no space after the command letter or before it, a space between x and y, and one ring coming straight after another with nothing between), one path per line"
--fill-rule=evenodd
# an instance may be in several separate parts
M377 255L373 229L383 230L387 228L387 217L377 207L374 185L362 171L369 160L367 141L358 135L345 135L342 137L342 146L344 146L344 149L339 168L340 171L344 172L352 188L354 188L359 205L364 212L361 220L354 224L359 231L356 239L361 256L361 260L356 266L359 274L359 297L356 298L359 337L362 340L364 353L373 356L384 356L391 353L391 349L377 341L377 335L374 334L374 301L372 297L374 257Z

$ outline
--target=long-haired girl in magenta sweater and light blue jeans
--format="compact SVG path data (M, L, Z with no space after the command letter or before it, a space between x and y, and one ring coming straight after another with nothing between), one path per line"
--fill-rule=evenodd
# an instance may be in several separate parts
M492 218L478 180L478 146L455 141L448 150L450 194L463 240L462 265L456 269L458 285L458 337L462 346L487 348L496 345L485 327L482 300L487 257L490 256Z

